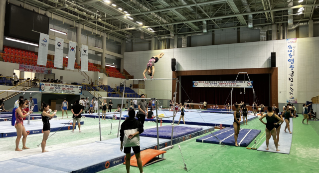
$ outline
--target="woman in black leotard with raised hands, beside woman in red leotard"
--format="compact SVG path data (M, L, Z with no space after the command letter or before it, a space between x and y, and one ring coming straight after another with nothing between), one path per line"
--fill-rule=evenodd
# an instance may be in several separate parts
M51 131L51 125L49 120L51 120L55 114L56 114L56 110L54 111L54 113L50 114L50 107L47 104L42 104L42 109L43 112L41 113L41 119L42 119L42 123L43 123L43 139L42 139L42 143L41 143L41 148L42 148L42 153L47 152L45 150L45 145L46 145L46 140L48 139L48 136L50 135L50 131Z

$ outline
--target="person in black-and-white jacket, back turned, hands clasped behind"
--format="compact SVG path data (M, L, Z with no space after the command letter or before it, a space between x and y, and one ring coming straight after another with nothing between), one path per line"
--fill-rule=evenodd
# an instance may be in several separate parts
M123 151L126 155L125 167L127 173L130 173L131 167L131 148L135 154L137 164L140 173L143 173L141 149L140 149L140 134L144 132L143 125L141 122L136 120L134 109L129 109L129 118L127 118L122 124L120 129L120 141L121 141L121 152Z

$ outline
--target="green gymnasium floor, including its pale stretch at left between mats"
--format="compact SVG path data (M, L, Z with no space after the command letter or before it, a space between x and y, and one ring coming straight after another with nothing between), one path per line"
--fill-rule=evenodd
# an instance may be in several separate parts
M61 118L62 112L58 111L57 116ZM71 120L70 116L64 119ZM47 141L46 149L53 151L98 141L98 119L82 118L82 121L84 121L84 125L81 127L81 133L78 133L78 130L75 130L75 133L71 133L71 131L58 132ZM195 142L197 138L205 135L180 143L180 148L190 173L319 173L319 122L309 121L310 125L305 125L301 121L302 117L293 119L293 142L289 155L247 150L244 147L220 147L216 144ZM162 125L169 124L163 123ZM108 135L110 126L110 120L101 120L102 140L116 138L118 121L113 121L112 135ZM153 127L156 127L155 123L145 123L146 129ZM262 130L256 139L265 131L265 125L259 119L252 120L248 122L248 126L242 125L241 128ZM29 135L26 144L30 150L23 152L14 152L15 137L0 139L0 161L40 153L41 148L37 145L41 143L42 136L42 134ZM257 148L264 141L265 138ZM253 144L254 142L249 147ZM20 142L20 147L22 147L22 142ZM145 167L144 172L186 173L183 169L184 165L178 145L175 145L172 150L168 150L165 158L164 161ZM126 169L125 165L119 165L100 173L126 173ZM131 167L131 173L139 173L139 169Z

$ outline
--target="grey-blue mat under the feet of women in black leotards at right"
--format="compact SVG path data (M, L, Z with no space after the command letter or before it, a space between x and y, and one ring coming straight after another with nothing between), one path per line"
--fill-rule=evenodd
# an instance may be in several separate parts
M280 132L279 132L279 145L280 145L278 146L278 149L280 150L279 152L276 152L276 147L275 147L273 138L269 139L268 151L266 150L266 141L257 150L263 151L263 152L282 153L282 154L289 155L291 143L293 139L293 134L290 134L288 132L288 129L286 130L287 132L285 132L285 126L286 126L286 122L284 122L281 125ZM290 131L293 132L293 118L290 118Z

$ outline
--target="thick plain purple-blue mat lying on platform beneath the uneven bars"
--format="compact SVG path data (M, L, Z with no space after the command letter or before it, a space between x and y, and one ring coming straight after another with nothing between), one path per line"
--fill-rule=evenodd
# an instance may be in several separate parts
M186 126L174 126L173 139L192 134L201 131L201 127L186 127ZM157 138L156 128L146 129L140 136ZM159 127L159 138L170 139L171 138L171 126Z

